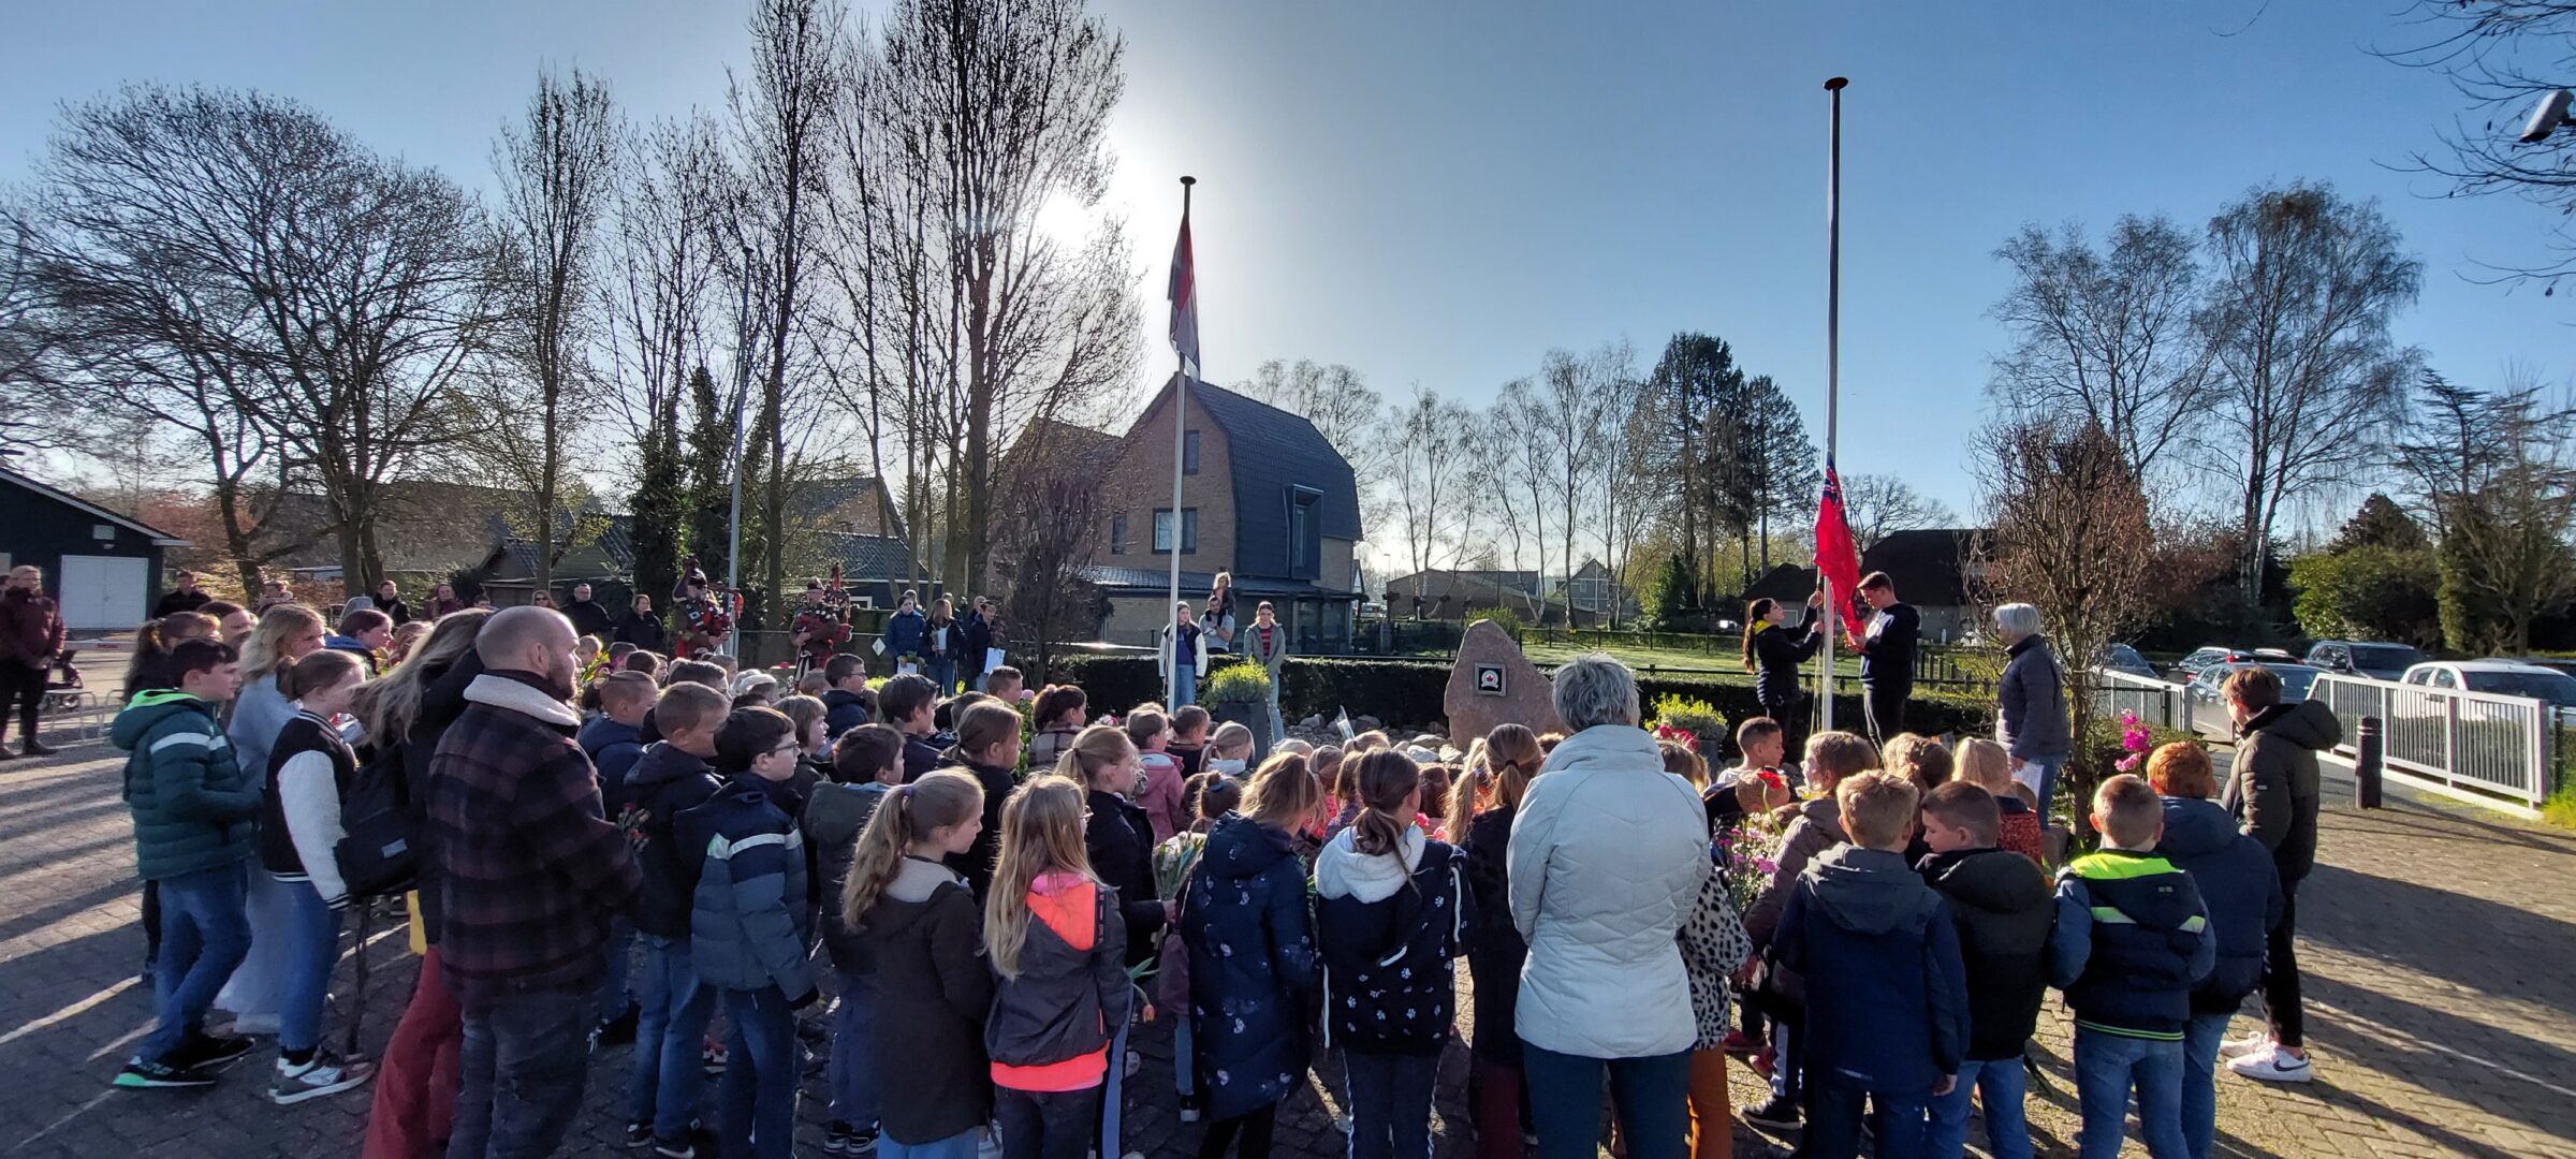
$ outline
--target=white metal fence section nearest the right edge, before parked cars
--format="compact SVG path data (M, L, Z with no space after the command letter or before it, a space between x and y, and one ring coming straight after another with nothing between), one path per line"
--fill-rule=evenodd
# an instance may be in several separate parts
M2339 752L2352 752L2362 716L2378 716L2391 773L2524 809L2540 809L2550 796L2550 749L2561 721L2548 703L2347 675L2316 677L2308 698L2324 701L2344 726Z

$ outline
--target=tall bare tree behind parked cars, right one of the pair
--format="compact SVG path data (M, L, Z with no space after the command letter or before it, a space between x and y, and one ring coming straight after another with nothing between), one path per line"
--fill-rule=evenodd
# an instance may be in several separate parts
M2370 464L2367 435L2398 415L2416 353L2388 319L2414 304L2424 265L2375 203L2326 185L2257 188L2210 219L2210 296L2200 327L2215 355L2215 417L2202 443L2239 482L2246 603L2285 502Z

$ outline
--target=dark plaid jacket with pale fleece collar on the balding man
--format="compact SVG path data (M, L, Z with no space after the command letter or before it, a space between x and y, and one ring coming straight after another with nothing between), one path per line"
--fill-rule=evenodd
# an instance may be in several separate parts
M430 757L438 956L469 1010L502 994L598 989L608 914L636 863L572 742L580 716L528 672L484 672Z

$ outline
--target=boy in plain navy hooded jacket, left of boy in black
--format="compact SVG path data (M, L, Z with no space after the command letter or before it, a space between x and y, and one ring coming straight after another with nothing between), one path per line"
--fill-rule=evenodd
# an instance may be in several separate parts
M1798 873L1772 935L1777 968L1803 979L1806 1146L1860 1154L1862 1105L1886 1159L1927 1154L1927 1115L1958 1084L1968 1048L1968 976L1950 904L1906 865L1922 793L1893 773L1834 786L1850 845Z

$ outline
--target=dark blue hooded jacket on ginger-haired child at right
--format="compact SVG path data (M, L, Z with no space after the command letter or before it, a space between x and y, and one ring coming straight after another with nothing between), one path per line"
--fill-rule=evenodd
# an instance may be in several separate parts
M2169 796L2156 855L2190 873L2200 901L2210 907L2218 958L2210 976L2192 986L2192 1012L2231 1012L2262 984L2264 935L2280 925L2282 894L2272 853L2236 832L2226 809Z

